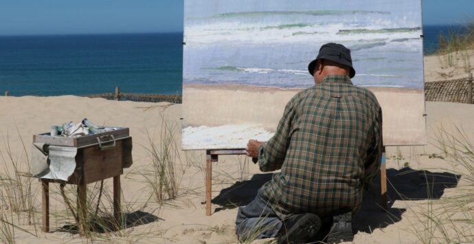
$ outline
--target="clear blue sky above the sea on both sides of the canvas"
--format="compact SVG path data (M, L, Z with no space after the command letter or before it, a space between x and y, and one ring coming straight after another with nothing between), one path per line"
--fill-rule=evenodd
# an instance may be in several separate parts
M474 0L423 0L425 25L474 18ZM182 32L183 0L0 0L0 35Z

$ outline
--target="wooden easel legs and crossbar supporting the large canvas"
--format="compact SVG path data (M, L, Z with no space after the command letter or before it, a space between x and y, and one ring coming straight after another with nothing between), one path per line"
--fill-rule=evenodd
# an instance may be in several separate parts
M206 150L205 164L205 213L206 216L212 214L212 163L218 162L219 155L247 155L245 149L223 149L223 150ZM387 206L387 166L385 165L385 146L382 147L382 159L380 166L381 178L381 196L379 205L384 210Z

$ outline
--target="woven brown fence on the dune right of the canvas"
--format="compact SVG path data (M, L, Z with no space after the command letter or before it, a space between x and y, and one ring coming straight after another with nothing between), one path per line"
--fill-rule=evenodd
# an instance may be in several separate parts
M425 82L425 100L473 104L473 74L458 80Z

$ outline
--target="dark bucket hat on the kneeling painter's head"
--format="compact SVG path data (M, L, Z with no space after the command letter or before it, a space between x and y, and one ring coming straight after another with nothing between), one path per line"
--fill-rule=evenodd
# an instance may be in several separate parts
M326 43L322 45L316 59L311 61L308 65L308 71L311 76L313 76L317 60L319 59L331 60L335 63L350 67L349 77L352 78L355 76L355 69L352 67L352 58L350 57L350 49L344 47L344 45L338 43Z

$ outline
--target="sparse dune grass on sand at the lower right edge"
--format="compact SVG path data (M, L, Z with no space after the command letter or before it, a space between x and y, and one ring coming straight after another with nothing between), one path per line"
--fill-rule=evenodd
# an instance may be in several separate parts
M440 153L428 156L449 163L449 167L433 168L460 175L458 186L440 199L431 196L434 182L426 180L427 200L407 208L413 215L407 218L419 243L471 243L474 240L474 146L472 139L460 127L441 127L433 137L433 146ZM436 157L433 157L436 155ZM425 175L425 179L427 179ZM441 182L442 183L442 182Z

